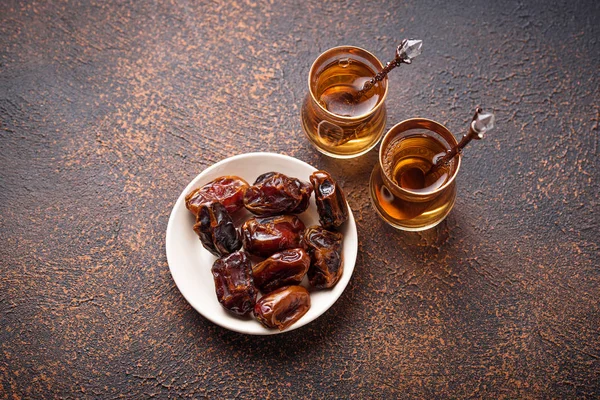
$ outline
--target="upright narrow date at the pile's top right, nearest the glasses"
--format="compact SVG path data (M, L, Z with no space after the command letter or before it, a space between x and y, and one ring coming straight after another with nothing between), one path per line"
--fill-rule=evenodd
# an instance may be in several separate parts
M348 220L348 203L342 188L327 171L316 171L310 176L315 189L315 203L319 222L327 229L334 229Z

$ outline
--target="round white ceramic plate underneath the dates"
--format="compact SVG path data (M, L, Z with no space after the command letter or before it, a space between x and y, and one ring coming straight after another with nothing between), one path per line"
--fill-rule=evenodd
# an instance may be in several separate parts
M194 217L185 207L185 195L192 189L203 186L222 175L237 175L252 184L259 175L269 171L281 172L308 181L308 177L316 171L316 168L293 157L274 153L241 154L219 161L205 169L189 183L177 199L167 226L166 248L169 269L183 297L196 311L215 324L232 331L251 335L271 335L280 333L280 331L278 329L266 329L252 317L237 317L219 304L211 274L211 267L216 257L202 247L198 236L192 230ZM243 212L240 211L239 213ZM248 217L250 217L249 213L246 218ZM307 227L319 224L314 195L311 197L308 209L299 217ZM245 218L244 216L238 216L238 213L236 213L234 220L238 222L245 220ZM236 225L238 224L236 223ZM300 320L283 332L300 328L319 317L335 303L346 285L348 285L358 251L356 223L352 211L350 211L348 221L341 227L340 232L344 235L342 250L344 272L342 278L332 289L311 290L310 309ZM308 287L306 278L302 285Z

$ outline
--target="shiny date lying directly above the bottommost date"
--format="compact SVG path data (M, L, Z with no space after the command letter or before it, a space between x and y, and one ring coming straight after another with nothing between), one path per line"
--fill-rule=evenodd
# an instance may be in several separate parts
M263 293L283 286L298 285L310 267L310 257L302 248L275 253L252 268L254 284Z

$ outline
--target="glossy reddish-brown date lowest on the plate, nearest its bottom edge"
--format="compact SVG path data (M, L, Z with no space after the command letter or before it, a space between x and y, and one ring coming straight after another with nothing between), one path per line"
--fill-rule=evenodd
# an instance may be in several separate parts
M258 300L254 316L266 328L280 331L298 321L310 309L310 295L302 286L285 286Z

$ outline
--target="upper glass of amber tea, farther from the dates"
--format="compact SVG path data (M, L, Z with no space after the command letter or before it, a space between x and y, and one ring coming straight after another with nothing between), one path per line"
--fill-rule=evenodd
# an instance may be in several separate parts
M315 60L302 104L302 128L317 150L352 158L377 144L385 129L387 77L357 94L382 68L377 57L354 46L334 47Z

